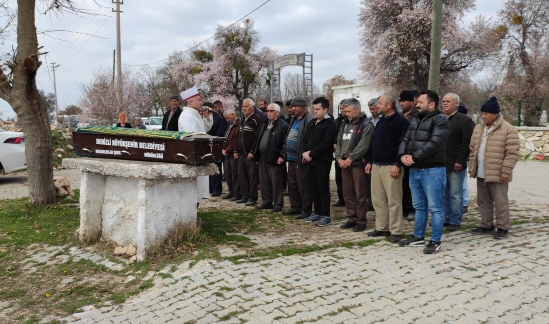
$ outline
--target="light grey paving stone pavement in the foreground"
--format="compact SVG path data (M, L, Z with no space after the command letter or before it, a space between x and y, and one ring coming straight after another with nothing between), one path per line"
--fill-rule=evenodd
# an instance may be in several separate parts
M256 263L189 262L124 304L75 323L546 323L549 224L507 240L445 235L434 255L386 241ZM158 278L160 279L160 278Z

